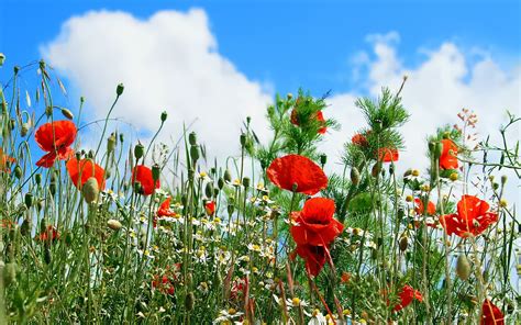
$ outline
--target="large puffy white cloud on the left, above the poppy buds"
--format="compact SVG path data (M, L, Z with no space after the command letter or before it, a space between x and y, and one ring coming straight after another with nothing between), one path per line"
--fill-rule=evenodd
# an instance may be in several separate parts
M250 80L219 54L207 15L198 9L159 11L146 20L88 12L69 19L41 52L86 97L89 117L104 117L115 86L123 82L113 117L154 131L166 110L163 139L177 138L182 123L198 119L193 128L211 144L211 155L235 153L241 122L247 115L264 122L271 100L266 82Z

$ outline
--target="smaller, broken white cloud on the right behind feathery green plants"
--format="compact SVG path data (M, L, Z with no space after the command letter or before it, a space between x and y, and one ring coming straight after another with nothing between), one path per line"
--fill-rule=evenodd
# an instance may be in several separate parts
M369 96L377 97L383 86L397 90L402 77L409 77L402 91L404 107L411 113L402 130L407 135L407 149L400 159L403 166L425 167L426 135L435 133L437 126L457 123L456 114L462 108L475 111L479 117L479 134L491 134L496 141L499 126L507 121L506 110L519 112L519 66L503 70L488 54L470 60L455 44L443 43L439 48L422 49L424 59L410 68L397 54L397 33L372 35L367 41L373 53L361 52L354 55L353 61L356 63L355 70L368 71L364 81ZM356 96L359 94L340 93L329 100L329 111L339 119L342 131L331 134L328 147L347 141L364 125L365 121L354 105Z

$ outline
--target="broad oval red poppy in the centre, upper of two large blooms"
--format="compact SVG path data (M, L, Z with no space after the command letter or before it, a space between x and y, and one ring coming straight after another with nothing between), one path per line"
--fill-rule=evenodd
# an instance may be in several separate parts
M311 159L299 155L274 159L266 173L277 187L292 191L296 184L297 192L308 195L317 194L328 187L328 177L322 168Z

